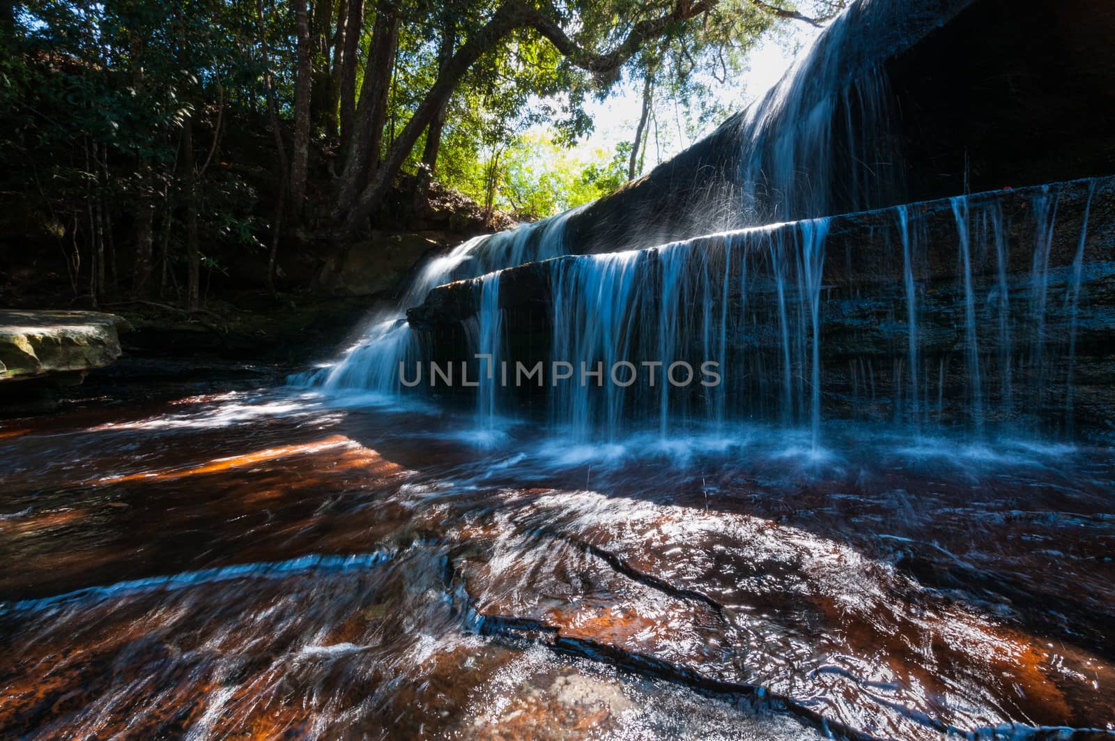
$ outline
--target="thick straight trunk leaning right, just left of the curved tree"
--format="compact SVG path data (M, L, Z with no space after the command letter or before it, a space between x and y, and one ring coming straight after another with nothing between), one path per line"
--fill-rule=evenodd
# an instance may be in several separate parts
M398 10L385 3L376 16L368 64L363 71L363 85L360 88L360 105L356 112L352 137L345 152L345 170L341 172L338 199L341 203L355 201L357 194L365 187L365 183L378 169L384 124L387 123L387 95L391 81L391 66L398 38Z

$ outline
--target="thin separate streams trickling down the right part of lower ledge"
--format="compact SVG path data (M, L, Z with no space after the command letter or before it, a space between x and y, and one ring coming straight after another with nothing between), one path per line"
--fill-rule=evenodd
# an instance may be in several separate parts
M1056 187L1029 196L1020 223L1004 215L999 200L950 199L956 267L953 277L932 280L925 276L928 256L947 254L950 244L940 240L949 237L937 234L939 241L930 242L911 208L894 210L906 352L892 391L904 395L901 410L914 432L930 420L976 435L987 425L1015 433L1035 424L1072 432L1094 192L1093 181L1078 233L1065 233L1068 227L1057 223ZM1061 257L1061 267L1053 267L1055 242L1075 248L1070 264ZM872 367L862 356L852 366ZM870 371L854 376L861 386L882 384ZM895 403L895 418L899 408Z

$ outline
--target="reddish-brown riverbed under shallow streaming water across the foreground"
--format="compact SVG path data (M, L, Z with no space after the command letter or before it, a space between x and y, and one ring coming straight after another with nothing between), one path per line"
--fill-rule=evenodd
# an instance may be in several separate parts
M0 425L0 738L1115 730L1111 450L543 435L297 392Z

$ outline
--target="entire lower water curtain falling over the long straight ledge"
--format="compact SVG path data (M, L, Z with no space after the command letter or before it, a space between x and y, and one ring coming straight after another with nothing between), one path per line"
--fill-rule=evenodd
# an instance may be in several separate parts
M1113 266L1087 240L1096 187L957 196L852 222L870 231L816 219L564 256L529 269L543 276L527 278L532 300L543 297L529 316L503 308L500 286L513 278L521 295L522 280L487 272L465 285L476 314L458 333L464 357L484 357L473 372L478 413L493 431L501 418L532 418L579 442L768 421L808 429L818 449L826 424L847 420L890 422L914 439L959 429L973 440L1072 440L1079 414L1095 430L1103 413L1075 403L1077 338L1086 329L1095 348L1113 330L1103 292ZM1063 189L1083 213L1056 218ZM843 231L830 244L833 223ZM1055 240L1073 251L1055 260ZM361 347L321 372L347 381L326 388L419 396L421 387L399 388L399 371L420 378L430 355L418 348L444 337L401 331L404 352ZM377 371L361 375L374 348ZM546 368L523 382L515 364L526 355L564 364L570 379ZM691 383L673 383L678 363Z

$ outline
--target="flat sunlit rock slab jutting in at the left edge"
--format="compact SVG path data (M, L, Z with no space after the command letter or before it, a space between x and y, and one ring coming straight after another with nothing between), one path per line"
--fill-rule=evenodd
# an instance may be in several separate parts
M79 383L120 356L126 319L99 311L0 309L0 383Z

